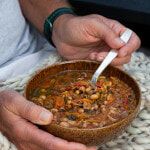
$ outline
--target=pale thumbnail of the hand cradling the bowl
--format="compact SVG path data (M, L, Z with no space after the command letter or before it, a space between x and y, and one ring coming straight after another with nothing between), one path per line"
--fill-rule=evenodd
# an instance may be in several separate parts
M42 111L41 114L40 114L40 120L43 123L50 123L51 118L52 118L51 112Z

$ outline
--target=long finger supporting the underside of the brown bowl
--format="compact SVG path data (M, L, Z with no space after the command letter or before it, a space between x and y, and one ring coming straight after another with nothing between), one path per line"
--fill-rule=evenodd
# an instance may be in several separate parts
M95 150L85 145L54 137L53 135L38 129L36 126L23 119L18 119L13 124L15 137L23 142L31 143L45 150Z

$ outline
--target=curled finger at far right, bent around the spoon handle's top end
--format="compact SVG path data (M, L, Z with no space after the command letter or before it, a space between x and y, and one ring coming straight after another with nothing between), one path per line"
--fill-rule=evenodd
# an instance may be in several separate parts
M133 33L129 42L119 50L119 57L125 57L136 51L141 45L139 37Z

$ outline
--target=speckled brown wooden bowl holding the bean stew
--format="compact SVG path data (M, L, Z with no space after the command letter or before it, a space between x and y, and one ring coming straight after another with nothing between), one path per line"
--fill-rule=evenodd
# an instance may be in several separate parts
M36 75L33 76L32 79L28 82L25 89L25 97L30 100L30 93L32 92L32 89L36 88L36 86L40 84L41 80L47 76L55 75L65 70L91 70L94 72L98 66L99 63L97 62L84 60L68 61L49 66L36 73ZM68 141L80 142L86 145L100 145L120 135L138 114L141 103L140 90L132 77L113 66L108 66L107 69L103 72L103 75L115 76L132 88L136 97L136 107L130 115L121 121L101 128L65 128L56 124L41 126L41 128L57 137L66 139Z

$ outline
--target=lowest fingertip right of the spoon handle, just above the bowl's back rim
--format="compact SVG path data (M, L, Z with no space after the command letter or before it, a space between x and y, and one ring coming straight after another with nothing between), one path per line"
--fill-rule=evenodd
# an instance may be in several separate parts
M131 60L131 55L128 55L128 56L122 57L122 58L117 57L117 58L115 58L115 59L112 61L111 64L114 65L114 66L120 66L120 65L124 65L124 64L129 63L130 60Z

